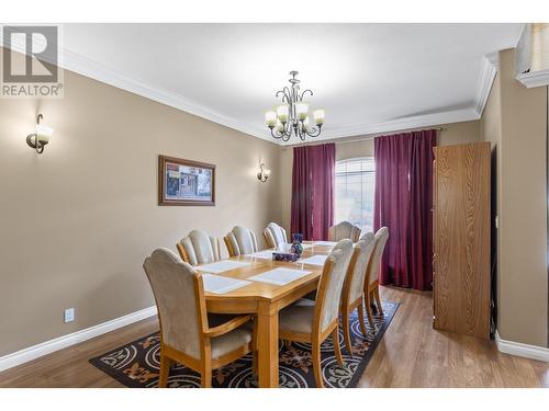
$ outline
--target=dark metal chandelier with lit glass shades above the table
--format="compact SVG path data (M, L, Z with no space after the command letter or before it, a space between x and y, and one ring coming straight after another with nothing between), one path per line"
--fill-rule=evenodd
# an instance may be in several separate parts
M289 79L290 88L287 85L276 94L277 98L282 95L282 104L278 105L274 111L266 112L265 121L271 129L272 137L288 141L293 134L304 141L306 136L317 137L321 134L324 110L313 111L315 125L312 125L309 118L309 103L303 101L303 96L306 93L313 95L313 92L310 89L300 92L300 80L295 78L298 71L290 71L290 76L292 76Z

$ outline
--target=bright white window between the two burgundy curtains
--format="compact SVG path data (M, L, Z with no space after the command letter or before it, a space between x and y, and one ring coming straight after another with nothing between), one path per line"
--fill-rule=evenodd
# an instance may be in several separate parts
M362 232L373 231L373 157L336 163L335 222L350 221Z

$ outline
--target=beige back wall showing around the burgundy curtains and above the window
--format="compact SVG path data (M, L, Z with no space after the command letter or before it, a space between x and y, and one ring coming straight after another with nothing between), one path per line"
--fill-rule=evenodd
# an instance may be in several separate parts
M439 146L477 142L480 141L481 139L480 122L453 123L434 127L442 127L442 129L438 132ZM336 140L335 141L336 161L357 158L357 157L373 157L373 137L374 135L367 135L367 136L341 138ZM328 142L328 141L322 141L322 142ZM281 222L287 229L290 229L290 221L291 221L292 163L293 163L292 147L282 148L282 155L280 158L280 172L281 172L280 197L282 201Z

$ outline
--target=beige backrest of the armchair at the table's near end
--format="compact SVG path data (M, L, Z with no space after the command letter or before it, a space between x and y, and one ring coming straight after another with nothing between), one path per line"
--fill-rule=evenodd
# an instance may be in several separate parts
M146 258L143 269L155 295L163 342L200 359L202 332L208 327L200 274L165 248Z

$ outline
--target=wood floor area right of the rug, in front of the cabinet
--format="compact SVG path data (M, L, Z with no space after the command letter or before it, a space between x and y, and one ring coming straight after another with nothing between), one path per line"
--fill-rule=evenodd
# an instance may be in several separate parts
M432 293L382 287L401 302L359 387L549 387L549 364L503 354L494 342L433 329Z

